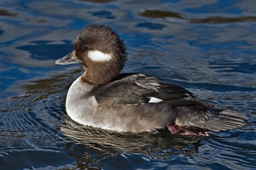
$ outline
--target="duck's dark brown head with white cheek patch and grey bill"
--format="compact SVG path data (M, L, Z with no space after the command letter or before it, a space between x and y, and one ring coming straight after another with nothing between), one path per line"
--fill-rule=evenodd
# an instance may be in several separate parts
M82 80L103 84L119 76L125 60L125 45L119 35L108 26L90 25L80 31L75 49L55 64L80 63L85 69Z

